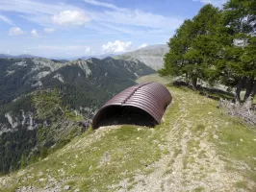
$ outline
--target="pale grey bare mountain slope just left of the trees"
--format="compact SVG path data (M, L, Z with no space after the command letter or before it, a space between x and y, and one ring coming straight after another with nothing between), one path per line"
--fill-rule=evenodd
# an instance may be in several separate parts
M168 51L169 48L165 44L150 45L136 51L115 56L114 58L118 60L141 60L147 66L157 70L163 67L163 59Z

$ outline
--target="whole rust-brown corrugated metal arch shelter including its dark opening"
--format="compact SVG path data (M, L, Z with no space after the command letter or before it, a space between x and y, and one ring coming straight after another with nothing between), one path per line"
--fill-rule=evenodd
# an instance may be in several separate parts
M171 99L163 84L136 84L118 93L100 108L93 117L92 128L116 124L153 127L161 123Z

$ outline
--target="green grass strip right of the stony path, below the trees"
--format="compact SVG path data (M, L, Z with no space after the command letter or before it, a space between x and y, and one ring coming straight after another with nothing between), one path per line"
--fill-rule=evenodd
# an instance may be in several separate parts
M221 109L217 107L217 101L208 100L207 102L202 102L202 100L207 100L204 96L199 96L199 93L192 91L187 87L171 87L170 90L182 91L183 95L191 101L192 104L189 108L189 118L194 119L192 121L191 131L194 135L200 136L203 132L215 132L218 135L218 139L213 137L207 138L209 141L215 144L218 155L224 156L224 160L227 163L231 164L231 169L227 171L238 172L242 174L244 178L256 182L256 172L254 168L256 167L256 160L253 157L256 157L256 137L248 131L246 126L241 123L240 119L230 117L228 114L225 114ZM196 96L197 95L197 96ZM198 97L197 104L193 104L191 97ZM176 100L177 102L177 100ZM175 115L169 113L169 115ZM198 120L201 123L196 123L195 120ZM215 126L218 126L218 129ZM208 129L206 129L208 127ZM210 128L209 128L210 127ZM241 141L243 139L243 141ZM199 141L194 139L190 140L187 143L187 147L192 153L196 153L199 149ZM222 144L226 143L226 145ZM198 156L206 157L205 152L199 152ZM235 161L241 161L249 167L245 170L237 170L233 165L233 162L228 162L227 159L232 159ZM192 163L193 159L185 157L184 167L187 168L189 163Z

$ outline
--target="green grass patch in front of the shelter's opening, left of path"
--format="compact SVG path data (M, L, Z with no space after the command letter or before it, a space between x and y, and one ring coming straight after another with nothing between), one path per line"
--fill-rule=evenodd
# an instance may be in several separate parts
M161 140L159 133L135 126L121 126L117 130L107 132L101 139L92 142L90 147L72 147L77 142L86 143L92 134L90 131L90 134L87 132L75 138L62 150L48 156L47 160L29 166L28 169L33 168L29 173L36 178L20 182L18 185L30 185L44 177L38 177L38 172L46 173L46 170L51 170L51 176L58 180L72 177L72 180L66 180L65 183L78 187L81 191L108 191L108 185L117 184L123 177L131 179L139 170L141 174L150 174L152 170L147 166L161 157L158 143L153 142ZM106 153L109 160L102 162ZM62 168L64 177L58 172ZM44 183L34 184L43 187Z

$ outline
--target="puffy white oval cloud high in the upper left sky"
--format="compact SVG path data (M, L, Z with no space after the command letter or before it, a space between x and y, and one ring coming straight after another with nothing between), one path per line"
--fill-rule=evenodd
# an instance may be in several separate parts
M52 21L58 25L84 25L90 21L85 12L63 11L52 16Z

